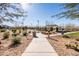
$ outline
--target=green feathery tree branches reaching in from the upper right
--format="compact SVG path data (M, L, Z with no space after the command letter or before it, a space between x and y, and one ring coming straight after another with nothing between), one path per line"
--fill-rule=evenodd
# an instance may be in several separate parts
M79 19L79 3L66 3L62 4L66 9L52 17L58 16L59 18Z

